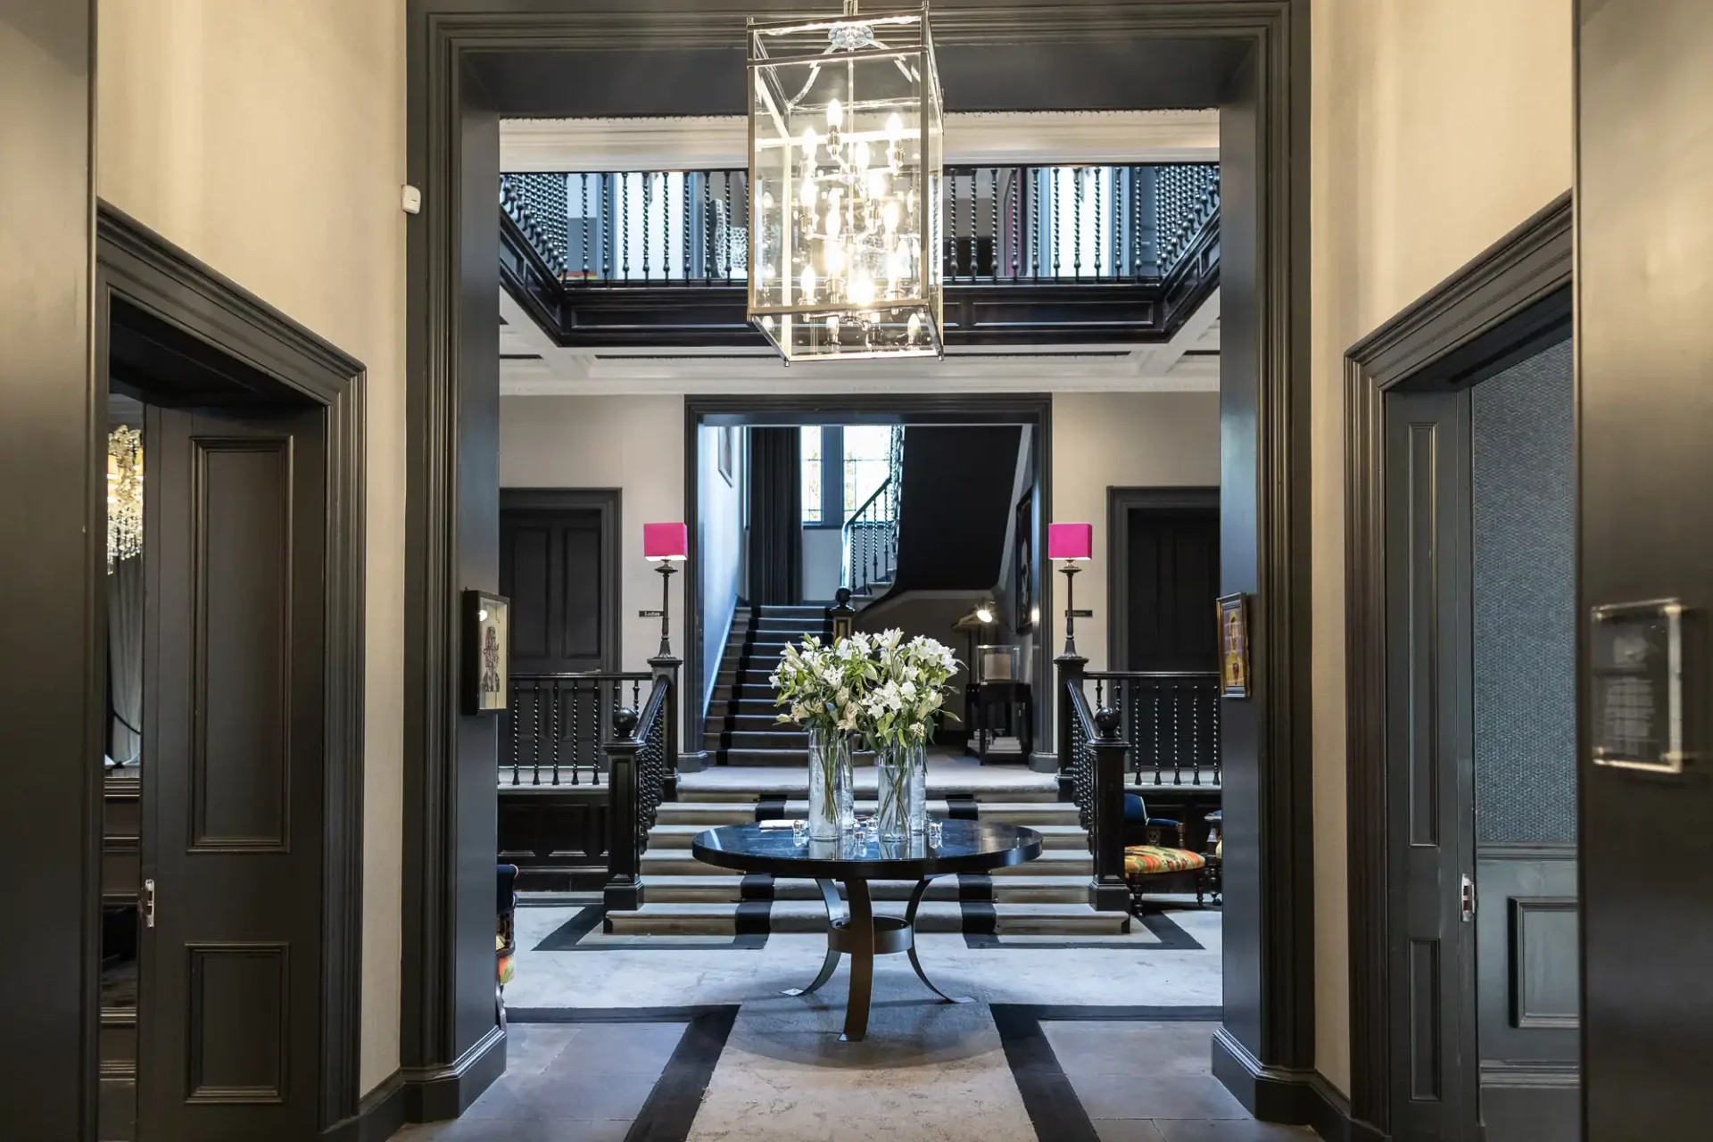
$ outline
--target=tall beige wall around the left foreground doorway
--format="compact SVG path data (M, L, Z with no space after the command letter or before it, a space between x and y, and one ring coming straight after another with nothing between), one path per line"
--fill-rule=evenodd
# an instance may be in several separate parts
M368 366L361 1087L399 1065L404 3L103 0L96 192Z

